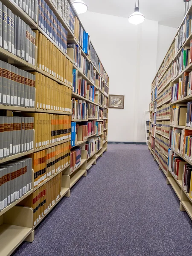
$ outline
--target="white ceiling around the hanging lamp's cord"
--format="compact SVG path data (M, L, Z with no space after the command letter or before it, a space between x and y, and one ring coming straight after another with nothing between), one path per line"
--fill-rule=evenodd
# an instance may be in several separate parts
M128 18L134 12L135 0L84 0L89 12ZM192 4L192 1L189 5ZM140 12L148 20L177 28L184 17L183 0L140 0Z

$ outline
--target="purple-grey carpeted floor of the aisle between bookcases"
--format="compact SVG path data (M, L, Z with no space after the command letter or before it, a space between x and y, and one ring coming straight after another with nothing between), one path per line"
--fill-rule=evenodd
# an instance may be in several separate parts
M190 256L192 221L146 145L108 151L15 256Z

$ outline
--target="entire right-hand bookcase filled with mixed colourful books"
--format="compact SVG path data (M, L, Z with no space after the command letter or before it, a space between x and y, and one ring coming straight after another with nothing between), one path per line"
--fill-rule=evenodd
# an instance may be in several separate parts
M192 7L151 84L148 148L192 219Z

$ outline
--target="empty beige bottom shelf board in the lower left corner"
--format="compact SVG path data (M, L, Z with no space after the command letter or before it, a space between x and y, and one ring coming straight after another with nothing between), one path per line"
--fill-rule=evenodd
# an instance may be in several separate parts
M0 225L0 256L9 256L32 232L32 228L10 224Z

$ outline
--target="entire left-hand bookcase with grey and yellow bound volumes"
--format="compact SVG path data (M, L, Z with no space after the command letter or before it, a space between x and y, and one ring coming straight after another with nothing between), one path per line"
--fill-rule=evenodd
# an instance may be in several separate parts
M0 120L0 127L2 128L3 124L3 133L20 131L14 137L16 145L14 143L12 145L11 141L10 145L7 142L7 155L3 151L4 144L3 148L0 148L0 164L6 170L8 177L9 168L15 168L10 166L18 164L22 167L21 170L24 170L22 161L25 160L27 164L29 163L28 166L25 166L26 175L29 173L29 177L25 178L27 180L25 184L21 185L22 179L24 182L24 176L21 176L25 175L24 171L22 174L20 172L19 177L15 176L17 179L20 178L20 188L17 191L17 188L14 187L16 189L13 195L14 199L16 193L14 201L6 206L4 201L6 199L0 198L0 203L2 204L3 201L5 204L4 208L1 207L0 210L0 256L8 256L23 241L32 242L34 240L35 228L63 197L70 197L70 189L82 176L86 177L91 166L95 165L97 159L107 151L109 78L92 42L87 40L90 42L90 46L87 43L87 48L81 43L82 35L79 36L79 33L85 29L70 1L66 1L68 12L70 12L68 16L62 12L61 2L57 0L40 1L44 8L49 6L52 25L48 26L48 31L47 21L44 19L48 11L45 12L44 9L41 12L41 15L45 13L43 18L40 17L41 15L38 16L38 8L35 11L34 0L31 1L34 3L33 17L32 12L31 15L29 14L30 6L27 11L22 5L22 1L21 6L18 6L14 0L2 0L1 2L11 10L14 15L13 21L21 22L24 32L22 33L22 29L14 23L15 28L12 30L12 35L15 38L21 38L13 45L16 47L16 54L14 51L12 52L12 49L9 51L0 46L0 61L12 65L8 65L10 78L6 78L6 85L10 85L10 88L8 89L7 85L6 103L2 104L4 103L2 102L3 97L0 102L1 116L8 118L6 119L8 121L11 117L17 118L15 119L17 128L13 128L12 131L12 123L10 122L9 125L9 122L7 124L2 121L4 119ZM33 7L31 6L31 8ZM26 46L28 26L30 61ZM18 31L21 33L20 36L17 34ZM10 38L12 39L12 37ZM79 49L81 63L86 61L88 70L84 71L82 65L76 65L74 52L68 47L71 43ZM20 54L17 53L17 50L21 50ZM0 71L3 73L5 68L1 66L2 63L0 62ZM12 67L15 71L12 71ZM21 71L25 71L22 76L19 73ZM76 79L80 78L86 84L84 93L81 89L74 90L73 72L76 72ZM3 77L0 72L0 79L4 79ZM3 94L3 89L0 87L0 93L1 90ZM11 103L8 102L9 96ZM11 97L13 97L13 103ZM21 105L22 99L23 105ZM84 102L84 113L76 112L72 101L75 104ZM26 125L25 118L31 120L29 127ZM87 136L83 140L78 140L79 135L76 134L73 146L70 145L72 140L71 122L79 126L87 125ZM6 136L9 137L9 134ZM22 148L23 145L25 147L25 144L27 149L23 151L20 147ZM14 154L10 154L9 151L12 147L18 147L18 151ZM77 149L81 151L81 160L78 165L76 164L77 160L74 162ZM1 157L1 152L3 152L3 157ZM32 168L30 163L32 163ZM31 172L28 172L30 170ZM23 184L26 185L27 190L26 192L23 190L22 193L20 189L23 189Z

